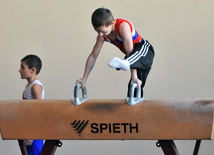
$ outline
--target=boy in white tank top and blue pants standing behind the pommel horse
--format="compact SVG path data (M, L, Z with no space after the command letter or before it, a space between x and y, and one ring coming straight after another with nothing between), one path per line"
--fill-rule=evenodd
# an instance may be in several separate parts
M27 80L27 85L23 92L23 99L44 99L45 91L42 83L37 80L37 75L42 68L42 62L36 55L27 55L21 60L21 67L19 73L22 79ZM39 155L43 140L24 140L27 146L29 155Z

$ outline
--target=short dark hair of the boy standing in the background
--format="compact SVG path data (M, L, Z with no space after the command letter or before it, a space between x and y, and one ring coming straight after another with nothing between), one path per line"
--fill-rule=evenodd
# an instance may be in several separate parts
M42 68L42 61L38 56L30 54L25 56L21 61L25 62L28 65L29 69L32 69L33 67L35 67L36 74L39 74Z

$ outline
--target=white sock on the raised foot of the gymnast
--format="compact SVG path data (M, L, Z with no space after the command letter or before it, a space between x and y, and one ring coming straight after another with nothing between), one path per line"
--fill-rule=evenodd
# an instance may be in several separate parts
M125 71L130 69L129 62L127 60L121 60L121 59L119 59L117 57L112 58L108 62L108 66L112 67L112 68L122 69L122 70L125 70Z

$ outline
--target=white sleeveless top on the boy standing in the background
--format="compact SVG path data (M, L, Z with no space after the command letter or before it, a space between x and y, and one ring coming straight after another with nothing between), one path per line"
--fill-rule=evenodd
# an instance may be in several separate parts
M45 90L44 90L44 86L42 85L42 83L39 80L35 80L33 81L29 86L27 86L24 90L24 95L23 95L23 99L34 99L32 92L31 92L31 88L33 85L38 84L40 86L42 86L42 99L45 98Z

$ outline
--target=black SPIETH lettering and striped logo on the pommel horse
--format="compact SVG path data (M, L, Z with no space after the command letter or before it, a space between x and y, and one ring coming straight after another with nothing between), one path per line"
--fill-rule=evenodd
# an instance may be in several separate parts
M138 133L138 123L89 123L89 120L75 120L70 125L77 134L81 134L88 125L93 134L96 133Z

